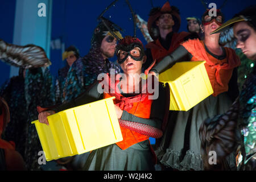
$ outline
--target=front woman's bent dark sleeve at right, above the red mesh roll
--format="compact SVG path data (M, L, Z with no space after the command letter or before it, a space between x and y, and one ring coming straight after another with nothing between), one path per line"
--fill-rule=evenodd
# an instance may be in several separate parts
M123 111L121 119L126 121L142 123L161 129L164 118L164 106L166 105L166 92L164 89L165 88L163 87L163 85L159 84L159 97L158 99L152 102L149 119L139 118L133 114L128 113L125 110Z

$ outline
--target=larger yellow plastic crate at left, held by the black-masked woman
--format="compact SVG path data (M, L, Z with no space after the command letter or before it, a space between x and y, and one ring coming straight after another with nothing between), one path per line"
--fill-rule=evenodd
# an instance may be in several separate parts
M35 124L46 160L82 154L123 140L113 98L73 107Z

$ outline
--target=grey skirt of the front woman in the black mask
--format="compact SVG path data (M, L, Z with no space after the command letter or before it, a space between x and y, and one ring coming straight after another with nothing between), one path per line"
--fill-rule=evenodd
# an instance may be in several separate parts
M149 140L122 150L117 144L98 148L90 153L84 170L89 171L153 171L153 155Z

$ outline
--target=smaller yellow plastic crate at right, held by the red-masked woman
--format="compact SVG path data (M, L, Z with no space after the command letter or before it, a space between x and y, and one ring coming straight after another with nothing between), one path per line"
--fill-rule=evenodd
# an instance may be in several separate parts
M170 110L187 111L213 93L205 61L184 61L159 75L170 86Z

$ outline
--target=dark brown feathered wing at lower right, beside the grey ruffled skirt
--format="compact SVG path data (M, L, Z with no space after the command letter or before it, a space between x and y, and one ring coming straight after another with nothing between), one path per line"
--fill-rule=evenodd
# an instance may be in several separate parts
M201 125L199 136L204 170L225 170L228 167L225 158L237 147L235 131L238 110L239 104L236 101L225 114L217 115L212 119L208 118ZM216 152L216 156L213 156L216 157L215 164L210 162L211 151Z

